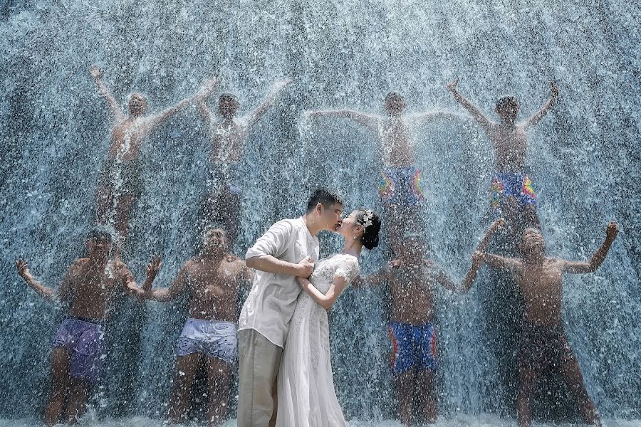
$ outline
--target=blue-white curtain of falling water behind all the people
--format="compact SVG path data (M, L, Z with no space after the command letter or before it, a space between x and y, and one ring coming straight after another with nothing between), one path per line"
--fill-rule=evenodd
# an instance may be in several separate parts
M506 94L518 98L523 120L556 80L558 105L528 134L538 216L548 253L576 260L598 248L610 218L621 224L597 273L566 277L563 319L599 411L637 418L641 394L628 392L641 387L640 99L632 72L639 36L631 7L623 1L499 7L391 0L271 1L259 9L155 0L0 6L0 416L33 416L46 401L49 344L63 310L26 288L13 261L28 258L38 278L57 286L83 253L112 120L87 73L98 63L123 108L131 93L141 92L150 112L219 75L210 108L216 110L220 93L231 92L244 115L272 83L295 78L250 132L236 169L243 184L238 255L273 221L300 215L317 184L337 189L346 212L358 206L382 211L376 135L348 120L309 120L303 110L348 107L384 115L385 94L395 90L405 96L407 114L438 108L466 117L443 88L460 75L460 92L492 120L498 120L496 100ZM434 259L462 278L489 223L493 149L469 121L411 125L426 183L423 233ZM142 192L123 251L139 282L152 250L165 255L157 286L169 285L194 252L208 132L197 110L187 107L142 144ZM340 246L331 236L322 240L325 253ZM387 251L383 242L368 253L365 272L384 265ZM485 272L469 295L436 294L439 411L513 416L518 292ZM118 300L105 334L105 377L92 391L99 416L165 416L185 304ZM383 288L348 290L330 316L336 389L348 418L395 416L389 304ZM572 404L563 400L563 384L551 388ZM235 396L232 390L232 409ZM541 406L533 408L548 417ZM572 418L556 406L549 417Z

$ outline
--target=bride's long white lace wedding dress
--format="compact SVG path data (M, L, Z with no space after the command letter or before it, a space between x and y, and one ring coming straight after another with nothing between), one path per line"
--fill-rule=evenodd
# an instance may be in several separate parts
M334 276L341 276L349 283L358 273L358 258L338 253L319 260L309 280L324 294ZM291 318L278 371L276 426L345 425L334 391L327 312L303 291Z

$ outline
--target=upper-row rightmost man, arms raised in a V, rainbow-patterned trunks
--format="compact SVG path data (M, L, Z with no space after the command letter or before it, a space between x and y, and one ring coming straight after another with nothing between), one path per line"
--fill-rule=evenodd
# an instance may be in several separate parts
M496 114L500 122L489 120L474 104L457 91L459 79L447 85L456 100L470 112L476 122L483 127L494 145L496 174L491 183L491 206L498 216L508 221L514 241L518 241L524 228L541 228L536 215L536 196L532 181L526 169L525 159L528 147L526 131L530 130L545 117L548 110L558 100L558 86L550 83L551 97L534 115L517 123L519 105L514 96L501 97L496 102Z

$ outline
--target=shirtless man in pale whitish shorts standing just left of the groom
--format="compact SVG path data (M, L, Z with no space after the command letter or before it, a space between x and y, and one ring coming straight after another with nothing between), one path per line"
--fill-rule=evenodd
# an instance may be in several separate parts
M218 426L229 407L229 388L236 361L236 298L241 285L249 285L254 272L244 261L231 257L226 233L219 228L204 234L202 251L184 263L170 288L150 286L131 291L156 301L176 299L189 292L189 318L176 344L176 368L169 418L183 423L189 409L189 392L202 364L209 384L209 426Z

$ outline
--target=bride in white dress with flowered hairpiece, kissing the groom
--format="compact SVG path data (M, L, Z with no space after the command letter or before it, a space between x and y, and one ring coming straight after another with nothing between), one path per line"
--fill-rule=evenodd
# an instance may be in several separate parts
M376 214L353 211L338 228L343 251L319 260L309 280L298 279L306 292L298 296L278 372L277 427L346 425L334 391L327 310L358 276L360 251L378 245L379 231Z

